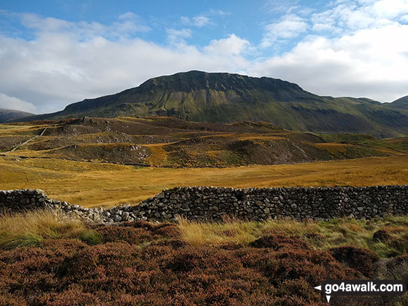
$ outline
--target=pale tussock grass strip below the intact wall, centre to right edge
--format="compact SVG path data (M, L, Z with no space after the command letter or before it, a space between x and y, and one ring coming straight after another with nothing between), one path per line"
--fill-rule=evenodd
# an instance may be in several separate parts
M222 223L199 223L178 219L182 240L195 246L210 244L248 244L268 234L296 236L307 241L314 249L326 250L336 246L356 246L373 250L381 257L407 253L395 248L395 241L406 241L408 217L393 216L386 219L364 221L332 219L330 221L298 222L291 220L248 222L226 219ZM374 241L377 230L390 233L390 241ZM406 244L406 242L405 242Z

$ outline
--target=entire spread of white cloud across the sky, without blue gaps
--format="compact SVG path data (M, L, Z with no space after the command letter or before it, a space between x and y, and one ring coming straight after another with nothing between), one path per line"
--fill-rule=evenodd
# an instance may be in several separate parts
M264 28L258 48L235 34L203 47L187 43L198 28L169 28L167 45L155 44L135 37L149 27L131 12L112 24L22 15L35 35L0 34L0 106L52 112L192 69L271 76L316 94L392 101L408 94L408 25L402 24L408 8L407 1L389 1L384 9L384 1L373 0L336 1L323 12L292 8ZM211 14L221 15L203 16ZM293 49L269 54L268 46L291 40L298 41Z

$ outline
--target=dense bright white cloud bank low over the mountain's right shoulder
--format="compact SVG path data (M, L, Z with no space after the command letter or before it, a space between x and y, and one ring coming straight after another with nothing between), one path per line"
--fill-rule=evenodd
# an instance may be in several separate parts
M408 37L408 26L367 28L333 39L309 36L250 73L291 80L316 94L393 101L408 94L408 41L401 37Z

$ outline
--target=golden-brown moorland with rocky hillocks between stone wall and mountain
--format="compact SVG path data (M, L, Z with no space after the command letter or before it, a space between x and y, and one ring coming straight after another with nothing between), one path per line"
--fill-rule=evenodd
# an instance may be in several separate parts
M88 118L0 125L3 189L40 188L87 207L164 188L400 185L408 138L314 135L266 122ZM12 151L15 149L14 151Z

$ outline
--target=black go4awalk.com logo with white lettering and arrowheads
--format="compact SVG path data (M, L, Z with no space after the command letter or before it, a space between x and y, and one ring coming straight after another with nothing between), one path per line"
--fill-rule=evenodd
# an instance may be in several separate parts
M328 303L332 296L402 296L407 291L404 280L332 280L327 266L326 280L314 289L326 296Z

